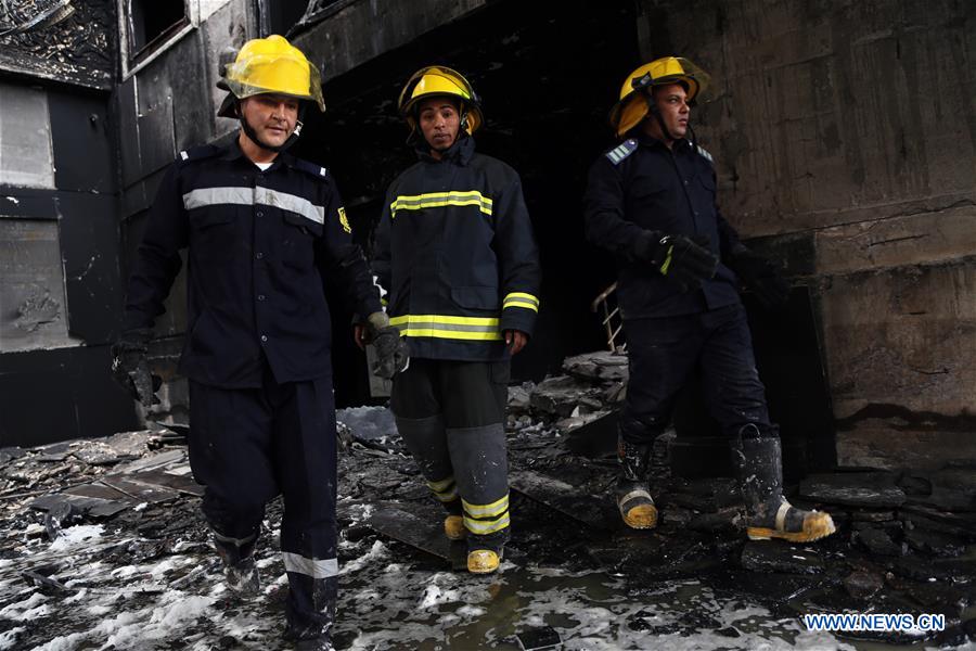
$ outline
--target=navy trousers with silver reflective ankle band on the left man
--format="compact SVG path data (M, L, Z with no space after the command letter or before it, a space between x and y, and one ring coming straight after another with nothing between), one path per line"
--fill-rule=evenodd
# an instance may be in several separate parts
M329 636L338 582L332 378L279 384L266 363L261 388L191 381L190 420L190 464L216 544L253 548L265 505L283 495L287 634Z

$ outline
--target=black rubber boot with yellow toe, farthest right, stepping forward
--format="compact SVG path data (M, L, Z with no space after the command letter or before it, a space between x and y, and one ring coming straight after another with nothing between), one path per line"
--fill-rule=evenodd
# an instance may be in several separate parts
M834 533L829 513L797 509L783 497L783 455L775 432L762 435L756 425L745 425L732 441L732 463L750 540L809 542Z

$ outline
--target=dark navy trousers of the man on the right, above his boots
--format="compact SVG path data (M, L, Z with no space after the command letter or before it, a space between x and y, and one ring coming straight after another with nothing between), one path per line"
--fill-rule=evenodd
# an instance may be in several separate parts
M675 399L696 366L708 410L730 441L749 423L762 435L774 435L741 304L693 315L625 320L624 332L630 366L620 419L625 441L642 446L654 443L668 426Z

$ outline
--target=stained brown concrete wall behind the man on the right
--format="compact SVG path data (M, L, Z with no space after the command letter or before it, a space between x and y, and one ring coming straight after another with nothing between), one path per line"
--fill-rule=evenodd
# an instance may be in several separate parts
M714 75L725 216L810 288L840 463L976 456L976 5L642 2Z

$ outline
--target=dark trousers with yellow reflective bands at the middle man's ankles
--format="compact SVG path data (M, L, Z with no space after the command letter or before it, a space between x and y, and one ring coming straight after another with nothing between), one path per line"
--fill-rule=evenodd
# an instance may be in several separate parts
M509 361L411 359L390 409L434 496L463 515L467 548L509 539L505 401Z

